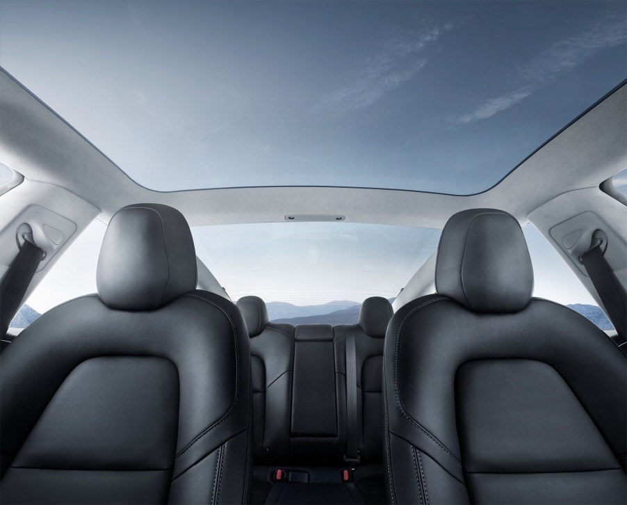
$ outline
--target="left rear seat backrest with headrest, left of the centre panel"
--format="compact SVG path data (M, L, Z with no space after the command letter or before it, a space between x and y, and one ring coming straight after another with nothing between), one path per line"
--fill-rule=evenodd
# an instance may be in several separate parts
M252 375L253 460L286 463L294 362L294 327L268 322L268 310L257 296L244 296L236 304L250 336Z

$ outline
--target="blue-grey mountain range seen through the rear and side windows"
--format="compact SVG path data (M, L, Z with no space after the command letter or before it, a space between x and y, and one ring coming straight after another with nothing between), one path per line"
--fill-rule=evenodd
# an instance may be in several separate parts
M359 319L359 308L361 305L350 300L336 300L323 305L292 305L284 302L270 302L267 304L268 316L273 323L288 324L316 324L326 323L333 326L339 324L357 324ZM600 307L596 305L587 305L584 303L574 303L567 305L569 309L579 312L587 319L592 321L601 330L613 330L614 327ZM17 312L13 321L10 323L11 328L26 328L40 313L29 305L24 304L22 309Z

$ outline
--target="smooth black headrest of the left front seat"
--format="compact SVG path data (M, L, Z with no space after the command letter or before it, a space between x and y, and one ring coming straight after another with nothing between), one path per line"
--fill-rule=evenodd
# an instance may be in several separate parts
M196 253L177 209L154 203L122 207L100 250L98 296L113 309L155 310L196 289Z

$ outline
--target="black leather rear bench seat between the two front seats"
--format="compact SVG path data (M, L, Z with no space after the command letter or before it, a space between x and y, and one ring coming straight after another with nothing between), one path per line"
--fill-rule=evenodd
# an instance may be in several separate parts
M269 323L266 304L257 296L245 296L237 305L249 329L252 361L252 502L384 503L382 355L389 301L368 298L359 324L335 328ZM345 347L351 332L357 382L353 424ZM352 425L356 428L349 430ZM355 472L345 461L351 436L359 449ZM343 481L347 476L350 481Z

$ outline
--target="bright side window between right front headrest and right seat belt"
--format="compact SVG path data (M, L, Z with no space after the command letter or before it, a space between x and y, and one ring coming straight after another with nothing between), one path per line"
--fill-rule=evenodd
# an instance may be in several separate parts
M614 326L589 294L577 275L564 262L542 234L532 224L523 228L533 264L533 296L553 300L579 312L601 330Z

